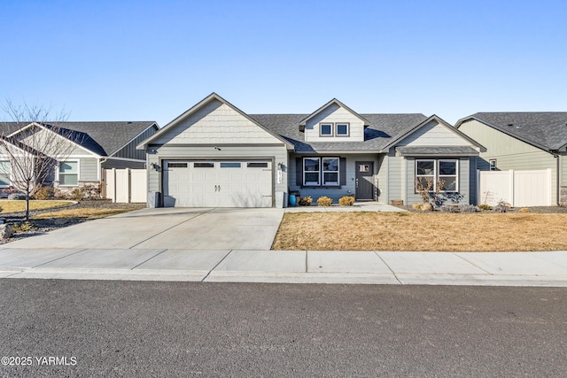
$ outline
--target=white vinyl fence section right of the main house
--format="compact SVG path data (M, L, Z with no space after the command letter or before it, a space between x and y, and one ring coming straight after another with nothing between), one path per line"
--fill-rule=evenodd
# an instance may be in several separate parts
M477 171L478 204L501 201L514 207L551 206L551 169Z

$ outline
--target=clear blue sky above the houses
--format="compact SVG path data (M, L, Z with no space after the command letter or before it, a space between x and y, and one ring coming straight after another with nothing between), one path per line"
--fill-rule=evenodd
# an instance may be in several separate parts
M69 120L567 111L567 2L0 0L0 102ZM2 116L3 118L4 115Z

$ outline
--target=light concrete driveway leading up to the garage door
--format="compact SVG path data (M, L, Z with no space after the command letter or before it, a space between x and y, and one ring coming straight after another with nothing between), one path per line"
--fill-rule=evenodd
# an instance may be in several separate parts
M283 209L159 208L5 244L25 249L269 250Z

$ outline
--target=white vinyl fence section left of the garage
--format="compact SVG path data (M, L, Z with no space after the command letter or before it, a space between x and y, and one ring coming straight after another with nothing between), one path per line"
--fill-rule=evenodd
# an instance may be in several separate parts
M113 202L130 203L147 201L147 175L145 169L103 169L103 196Z

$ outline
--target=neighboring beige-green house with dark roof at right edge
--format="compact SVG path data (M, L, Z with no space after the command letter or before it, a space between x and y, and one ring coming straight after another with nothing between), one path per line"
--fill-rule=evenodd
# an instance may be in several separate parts
M455 127L486 147L480 170L551 170L551 196L567 204L567 112L478 112Z

